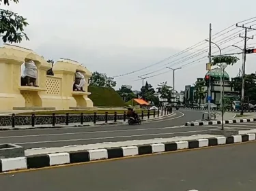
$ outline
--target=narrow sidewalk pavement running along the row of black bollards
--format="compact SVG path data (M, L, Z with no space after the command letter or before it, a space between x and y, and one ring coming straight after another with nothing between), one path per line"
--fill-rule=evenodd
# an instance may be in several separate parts
M159 116L154 118L154 116L150 116L150 118L148 119L147 116L144 116L143 120L141 121L153 121L153 120L159 120L161 118L166 118L166 117L170 117L170 116L175 116L176 113L171 113L168 115L163 115L163 116ZM81 123L70 123L69 125L66 124L55 124L55 126L53 126L52 124L45 124L45 125L35 125L35 126L15 126L14 128L12 126L0 126L0 131L8 131L8 130L25 130L25 129L35 129L35 128L64 128L64 127L83 127L83 126L102 126L102 125L109 125L109 124L128 124L128 119L126 119L126 121L124 122L124 120L117 120L117 122L114 121L109 121L109 122L104 122L104 121L97 121L96 124L94 124L93 122L83 122L83 124Z

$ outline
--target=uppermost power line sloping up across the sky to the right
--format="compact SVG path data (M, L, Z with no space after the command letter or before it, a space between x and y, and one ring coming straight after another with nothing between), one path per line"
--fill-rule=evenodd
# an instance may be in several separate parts
M242 21L240 21L239 23L241 23L241 22L246 22L246 21L252 20L252 19L254 19L254 18L256 18L256 17L248 18L248 19L246 19L246 20L242 20ZM230 29L231 27L233 27L233 24L232 24L230 27L227 27L226 29L223 29L223 31L226 31L227 29ZM220 32L216 33L215 35L217 35L217 34L219 34L219 33L222 33L223 31L220 31ZM213 35L213 36L214 36L214 35ZM164 62L164 61L166 61L166 60L169 60L170 58L173 58L174 56L178 56L178 55L180 55L180 54L184 54L184 52L188 52L188 50L194 49L195 46L199 46L199 44L201 44L202 42L205 43L205 40L200 41L199 43L197 43L197 44L195 44L195 45L193 45L193 46L190 46L189 48L186 48L185 50L182 50L181 52L178 52L178 53L176 53L176 54L174 54L174 55L172 55L172 56L169 56L168 58L165 58L165 59L163 59L163 60L160 60L158 63L154 63L154 64L149 65L149 66L147 66L147 67L143 67L143 68L141 68L141 69L137 69L137 70L135 70L135 71L130 71L130 72L128 72L128 73L124 73L124 74L121 74L121 75L115 75L115 76L113 76L113 77L121 77L121 76L124 76L124 75L130 75L130 74L132 74L132 73L136 73L136 72L138 72L138 71L141 71L141 70L143 70L143 69L147 69L147 68L152 67L152 66L154 66L154 65L158 65L158 64L160 64L160 63L162 63L162 62ZM201 46L201 45L200 45L200 46Z

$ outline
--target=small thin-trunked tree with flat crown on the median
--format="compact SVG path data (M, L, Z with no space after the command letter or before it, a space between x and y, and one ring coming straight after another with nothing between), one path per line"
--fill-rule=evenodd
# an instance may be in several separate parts
M238 62L238 60L239 58L236 56L214 56L212 65L220 67L222 74L224 74L226 67L230 65L233 66ZM223 86L223 90L224 90L224 86ZM222 120L221 129L222 130L224 129L223 116L226 111L225 108L226 108L226 104L224 103L224 97L223 97L223 99L221 99L221 120Z

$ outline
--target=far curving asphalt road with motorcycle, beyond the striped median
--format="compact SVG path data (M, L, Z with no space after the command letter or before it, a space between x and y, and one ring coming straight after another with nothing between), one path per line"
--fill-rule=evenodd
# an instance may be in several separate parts
M0 143L16 143L27 149L189 136L207 132L207 127L183 126L188 121L201 119L201 116L201 111L181 110L177 111L176 116L133 126L110 125L1 131Z

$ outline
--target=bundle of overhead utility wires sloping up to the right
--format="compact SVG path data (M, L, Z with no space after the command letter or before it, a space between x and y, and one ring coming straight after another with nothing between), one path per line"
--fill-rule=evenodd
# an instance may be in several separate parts
M243 20L241 22L238 22L238 24L249 24L251 26L256 25L256 16L253 18L249 18L246 20ZM242 45L239 45L243 39L239 38L239 34L244 34L244 29L236 27L236 24L232 24L230 27L227 27L226 29L223 29L222 31L212 35L212 41L221 47L221 50L225 50L225 53L233 52L235 50L238 50L238 48L233 48L233 45L237 45L238 47ZM252 30L253 31L253 30ZM248 32L252 32L248 31ZM238 40L237 40L238 39ZM163 60L160 60L158 63L154 63L152 65L148 65L147 67L143 67L141 69L137 69L135 71L130 71L128 73L124 73L121 75L115 75L113 77L123 77L126 75L132 75L134 73L142 73L140 75L141 79L147 79L150 77L155 77L157 75L162 75L164 73L169 72L170 70L167 70L167 67L186 67L188 65L195 65L197 63L201 63L202 61L205 62L207 60L208 56L208 39L204 39L202 41L199 41L197 44L194 44L193 46L190 46L186 48L185 50L182 50L181 52L177 52L176 54L173 54L169 56L168 58L165 58ZM235 42L233 42L235 41ZM233 42L233 43L231 43ZM253 45L253 44L248 44ZM200 48L203 47L203 48ZM232 48L232 49L230 49ZM216 50L216 46L212 46L212 55L218 54L219 50ZM215 51L216 50L216 51ZM241 51L240 51L241 52ZM236 52L236 53L240 53ZM168 63L166 63L168 61ZM143 73L143 71L150 69L152 67L158 67L158 69L152 69L152 71ZM159 68L160 67L160 68ZM161 72L160 72L161 71ZM159 73L160 72L160 73ZM141 80L139 79L139 80ZM134 80L138 81L138 80Z

